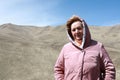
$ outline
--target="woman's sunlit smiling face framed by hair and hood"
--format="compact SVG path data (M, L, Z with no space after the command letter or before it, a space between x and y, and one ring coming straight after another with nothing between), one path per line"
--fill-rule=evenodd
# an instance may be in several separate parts
M71 25L71 33L75 41L82 40L83 37L83 26L80 21L76 21Z

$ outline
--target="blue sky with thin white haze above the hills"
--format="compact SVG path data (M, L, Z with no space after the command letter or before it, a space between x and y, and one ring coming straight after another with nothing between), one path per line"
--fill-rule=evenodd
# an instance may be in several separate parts
M72 15L88 25L120 24L120 0L0 0L0 25L57 26Z

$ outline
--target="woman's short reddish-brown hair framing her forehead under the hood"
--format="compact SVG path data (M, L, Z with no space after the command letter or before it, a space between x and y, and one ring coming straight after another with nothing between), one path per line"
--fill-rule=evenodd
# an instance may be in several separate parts
M73 36L72 36L72 33L71 33L71 25L72 23L76 22L76 21L80 21L82 22L82 19L76 15L73 15L68 21L67 21L67 31L68 31L68 34L71 36L71 38L74 40Z

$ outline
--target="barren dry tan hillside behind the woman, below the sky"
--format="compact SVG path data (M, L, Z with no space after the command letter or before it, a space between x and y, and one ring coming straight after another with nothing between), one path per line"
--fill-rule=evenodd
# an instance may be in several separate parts
M120 78L120 26L92 27L92 38L102 42ZM53 67L68 42L65 26L0 25L0 80L54 80Z

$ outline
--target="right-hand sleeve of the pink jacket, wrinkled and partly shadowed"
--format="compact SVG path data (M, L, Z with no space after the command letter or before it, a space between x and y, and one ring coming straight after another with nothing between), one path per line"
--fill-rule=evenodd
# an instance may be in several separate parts
M101 47L100 66L103 80L115 80L115 67L103 45Z

